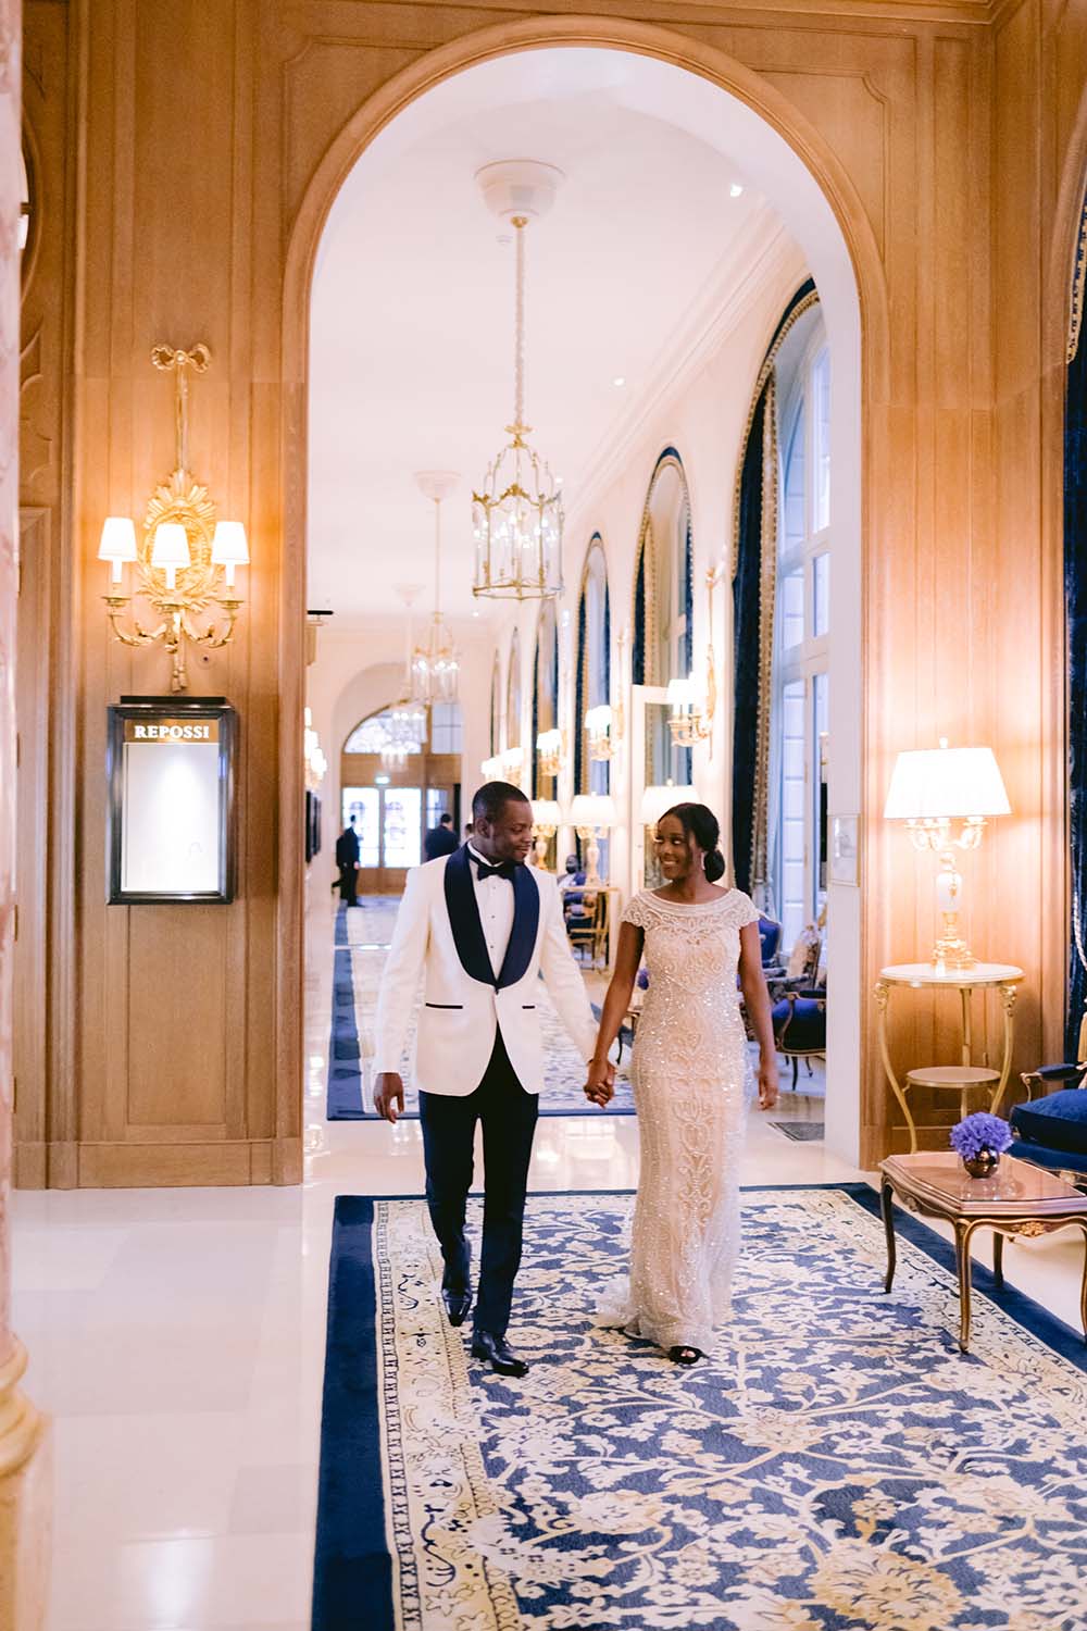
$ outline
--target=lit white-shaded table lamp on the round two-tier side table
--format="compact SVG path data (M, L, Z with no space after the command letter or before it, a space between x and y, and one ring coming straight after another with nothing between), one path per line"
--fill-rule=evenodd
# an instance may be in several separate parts
M883 816L906 822L914 850L940 858L935 904L944 931L932 948L937 969L971 969L976 961L958 933L963 879L952 848L976 850L986 819L1010 814L991 747L948 747L940 737L935 749L898 755Z

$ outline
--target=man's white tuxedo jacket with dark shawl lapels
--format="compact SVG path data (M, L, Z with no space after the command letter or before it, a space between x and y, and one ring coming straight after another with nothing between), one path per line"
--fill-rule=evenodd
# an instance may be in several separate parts
M399 1072L404 1039L425 975L416 1047L424 1093L474 1093L491 1060L495 1031L526 1093L543 1086L539 979L582 1059L592 1059L596 1023L562 922L549 873L513 869L484 889L513 891L513 925L495 972L479 917L468 846L407 873L376 1014L375 1072Z

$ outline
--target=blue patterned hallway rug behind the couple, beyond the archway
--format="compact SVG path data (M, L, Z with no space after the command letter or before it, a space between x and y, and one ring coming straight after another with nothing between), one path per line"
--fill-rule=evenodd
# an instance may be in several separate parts
M398 902L388 897L360 897L362 910L341 907L336 915L332 969L332 1036L329 1039L328 1119L378 1120L373 1109L372 1070L373 1014L381 969L396 923ZM381 936L385 936L381 939ZM416 1001L416 1014L419 1003ZM536 1000L548 1060L548 1081L539 1094L541 1116L632 1116L634 1096L626 1075L629 1054L619 1067L616 1094L606 1111L590 1104L582 1091L585 1062L570 1042L541 982ZM624 1032L624 1045L629 1032ZM406 1083L404 1116L417 1119L419 1096L412 1086L416 1018L412 1018L401 1075Z

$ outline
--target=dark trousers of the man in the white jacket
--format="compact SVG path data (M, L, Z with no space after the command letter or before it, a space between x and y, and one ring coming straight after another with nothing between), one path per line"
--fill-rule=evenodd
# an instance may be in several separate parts
M495 1032L491 1062L474 1093L464 1098L419 1094L427 1205L445 1259L442 1288L447 1292L464 1292L471 1284L464 1202L473 1181L476 1122L482 1124L482 1249L474 1324L477 1331L491 1331L494 1336L505 1336L510 1323L538 1116L539 1094L521 1088L500 1031Z

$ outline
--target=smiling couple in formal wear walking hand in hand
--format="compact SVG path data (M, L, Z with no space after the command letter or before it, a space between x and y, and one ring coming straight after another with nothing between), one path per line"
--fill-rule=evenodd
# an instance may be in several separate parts
M500 1375L526 1373L507 1326L546 1070L539 975L587 1062L585 1094L603 1107L614 1093L608 1054L645 957L649 992L631 1068L640 1143L631 1277L605 1323L650 1339L676 1364L696 1364L728 1311L740 1238L748 1054L737 974L759 1044L759 1104L777 1101L758 912L745 894L717 884L725 863L711 811L668 811L657 824L665 884L637 894L623 917L596 1024L556 881L525 864L533 842L528 799L491 781L473 799L473 822L466 845L407 874L376 1014L373 1098L394 1122L404 1109L399 1062L424 977L416 1083L448 1319L460 1326L473 1308L464 1210L479 1122L484 1220L471 1352Z

